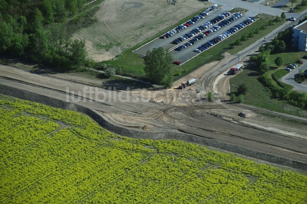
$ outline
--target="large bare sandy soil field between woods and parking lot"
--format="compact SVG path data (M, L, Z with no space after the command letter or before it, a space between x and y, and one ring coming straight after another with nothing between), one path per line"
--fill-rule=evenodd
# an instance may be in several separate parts
M95 61L114 58L123 50L142 42L211 2L177 0L105 0L95 14L98 22L73 34L85 39L89 57Z

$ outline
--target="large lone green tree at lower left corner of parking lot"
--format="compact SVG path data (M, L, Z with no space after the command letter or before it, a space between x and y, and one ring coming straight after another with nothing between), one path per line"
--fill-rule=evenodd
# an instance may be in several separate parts
M144 58L146 77L153 83L171 86L173 83L173 55L162 47L147 51Z

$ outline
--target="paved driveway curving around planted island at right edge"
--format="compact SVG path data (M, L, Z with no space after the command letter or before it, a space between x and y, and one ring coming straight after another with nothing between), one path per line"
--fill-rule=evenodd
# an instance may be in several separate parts
M294 87L293 90L297 90L299 92L307 93L307 85L299 84L299 83L294 81L294 76L298 74L300 68L304 72L307 69L307 65L303 64L300 67L296 67L295 69L292 69L289 72L289 74L286 74L285 76L283 76L280 79L280 81L282 81L282 82L284 82L286 84L292 85Z

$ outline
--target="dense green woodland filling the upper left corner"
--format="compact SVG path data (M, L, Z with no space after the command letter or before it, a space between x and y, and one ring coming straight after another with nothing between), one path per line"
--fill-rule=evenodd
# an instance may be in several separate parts
M84 40L71 40L66 23L86 0L0 0L0 54L25 57L54 68L86 62Z

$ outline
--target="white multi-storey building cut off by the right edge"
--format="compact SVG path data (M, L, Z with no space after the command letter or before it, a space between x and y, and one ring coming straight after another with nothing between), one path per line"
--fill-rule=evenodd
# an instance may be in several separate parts
M293 28L292 47L299 51L307 51L307 20Z

